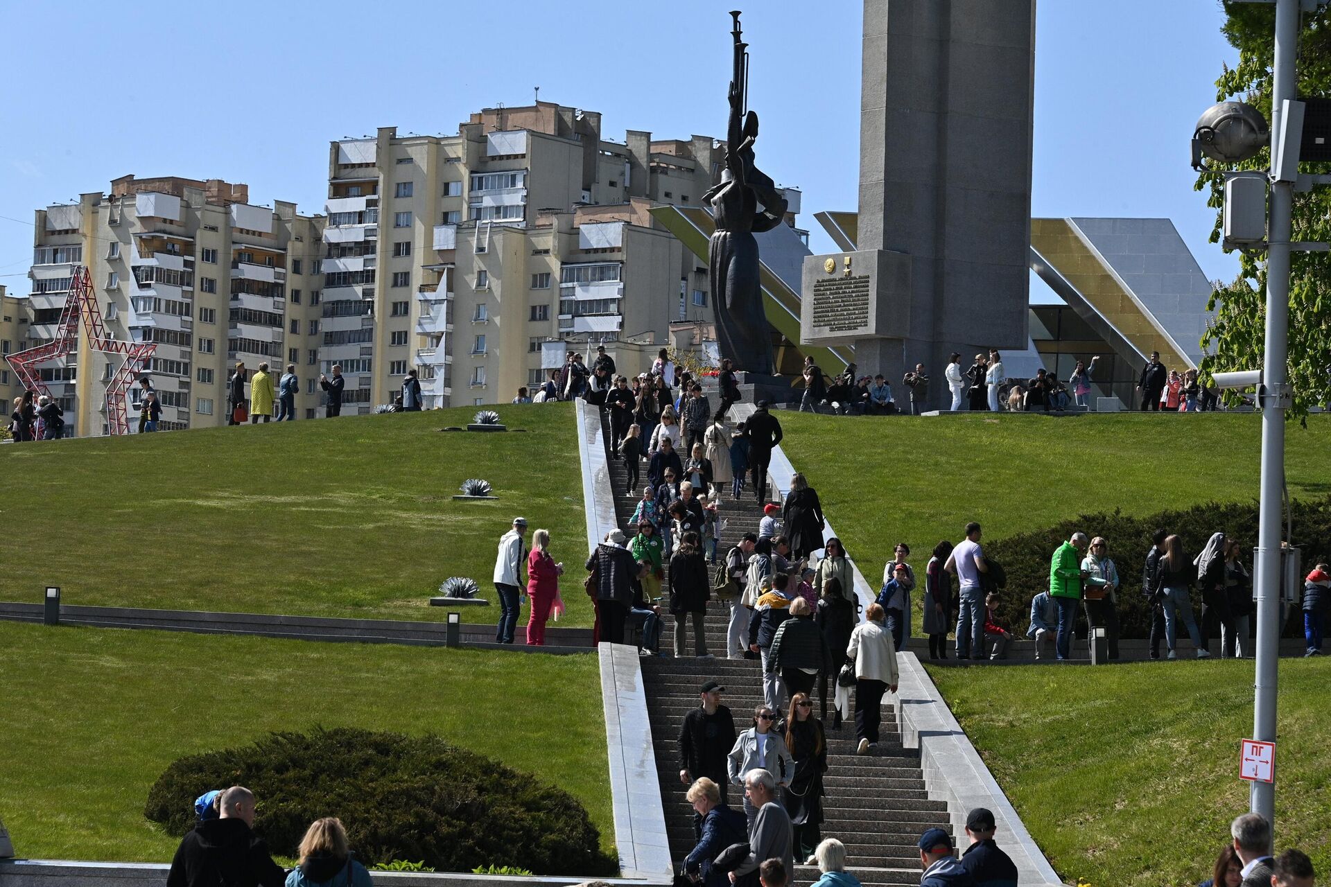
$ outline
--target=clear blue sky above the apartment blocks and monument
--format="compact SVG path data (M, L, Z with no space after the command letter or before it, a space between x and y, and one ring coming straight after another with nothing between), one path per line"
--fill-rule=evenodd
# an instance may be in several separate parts
M33 209L126 173L246 182L250 199L319 213L327 142L397 126L457 132L469 113L540 97L603 114L603 136L724 136L731 3L0 4L0 283L27 293ZM855 209L856 0L748 4L761 166L812 214ZM1189 138L1236 53L1219 0L1040 0L1036 215L1174 221L1209 278L1215 211ZM13 222L9 219L20 219ZM1036 298L1040 298L1038 294Z

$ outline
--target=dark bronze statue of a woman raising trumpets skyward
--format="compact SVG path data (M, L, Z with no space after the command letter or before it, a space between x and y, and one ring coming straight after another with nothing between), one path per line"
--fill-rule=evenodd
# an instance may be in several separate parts
M757 114L748 110L748 44L741 40L740 13L731 12L731 16L735 20L731 32L735 70L728 94L725 169L720 184L703 195L716 222L708 245L708 277L721 356L731 358L740 370L771 375L772 336L763 309L753 233L780 225L787 205L771 177L753 165Z

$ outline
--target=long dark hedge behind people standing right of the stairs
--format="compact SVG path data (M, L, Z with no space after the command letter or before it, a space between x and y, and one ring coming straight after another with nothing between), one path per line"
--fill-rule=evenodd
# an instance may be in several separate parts
M1312 501L1294 501L1291 511L1294 521L1291 541L1303 549L1304 568L1311 569L1312 564L1331 557L1331 496ZM1256 544L1256 523L1255 501L1207 503L1149 517L1127 517L1115 509L1113 513L1082 515L1045 529L988 543L985 555L1002 564L1008 573L1008 586L1000 593L1001 613L1005 622L1014 626L1013 630L1020 637L1025 637L1026 626L1030 625L1030 598L1049 589L1049 563L1054 549L1077 531L1090 537L1103 536L1109 543L1109 557L1118 567L1121 637L1145 638L1150 634L1150 609L1142 596L1142 567L1146 563L1146 553L1151 549L1151 536L1155 531L1167 529L1178 533L1190 559L1197 557L1206 540L1217 531L1238 539L1247 549L1243 565L1252 572L1251 549ZM1201 597L1195 593L1193 604L1201 608ZM1085 637L1085 624L1082 614L1079 637Z

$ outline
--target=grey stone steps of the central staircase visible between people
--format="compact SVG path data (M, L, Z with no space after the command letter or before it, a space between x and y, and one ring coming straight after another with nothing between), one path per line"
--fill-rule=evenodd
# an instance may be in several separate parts
M607 440L608 436L607 428ZM622 461L612 460L610 472L615 484L616 516L627 533L627 520L642 495L642 487L639 485L636 495L626 493L627 468ZM646 464L640 473L646 475ZM757 532L763 513L752 489L737 503L729 497L729 489L724 492L720 515L728 524L717 545L719 557L724 557L743 533ZM756 660L725 658L729 612L720 602L708 605L705 622L707 646L715 660L697 660L692 656L675 658L671 653L673 621L668 614L663 616L664 656L644 657L642 668L671 856L677 866L696 843L693 813L684 801L687 786L679 781L677 737L684 714L699 703L697 689L701 682L716 680L727 688L725 705L735 714L736 729L747 729L752 722L753 707L761 701L761 674ZM692 632L691 626L688 632ZM684 649L693 649L692 637L687 638ZM848 870L862 884L918 884L920 854L916 842L926 828L937 826L950 831L950 826L946 803L928 798L918 753L901 743L890 702L885 698L881 739L873 754L855 754L853 718L847 719L840 730L832 730L831 719L824 721L824 725L828 735L828 773L824 777L827 798L823 836L845 843ZM739 807L741 797L743 790L733 786L729 789L732 806ZM799 866L795 880L811 884L817 878L816 867Z

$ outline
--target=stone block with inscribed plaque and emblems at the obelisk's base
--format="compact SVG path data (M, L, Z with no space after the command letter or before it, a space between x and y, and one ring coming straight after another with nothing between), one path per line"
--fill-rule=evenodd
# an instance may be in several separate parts
M890 250L804 259L801 344L902 338L910 319L910 257Z

